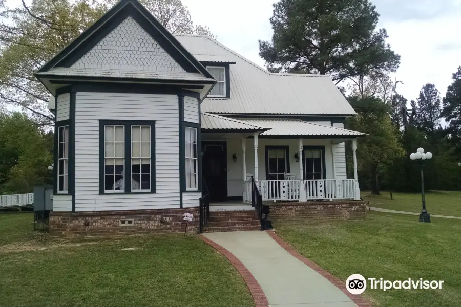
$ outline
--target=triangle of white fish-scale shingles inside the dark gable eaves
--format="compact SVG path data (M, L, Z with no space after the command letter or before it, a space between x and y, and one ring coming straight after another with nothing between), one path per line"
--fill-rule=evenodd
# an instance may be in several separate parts
M185 72L131 16L102 38L71 68Z

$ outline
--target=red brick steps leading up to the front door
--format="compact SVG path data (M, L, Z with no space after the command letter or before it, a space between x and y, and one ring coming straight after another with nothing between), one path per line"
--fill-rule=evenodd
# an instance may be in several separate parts
M260 230L260 225L258 215L254 210L215 211L210 212L203 232Z

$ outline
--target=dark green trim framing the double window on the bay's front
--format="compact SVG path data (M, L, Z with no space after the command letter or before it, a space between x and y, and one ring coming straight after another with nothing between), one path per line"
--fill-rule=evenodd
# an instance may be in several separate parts
M117 125L125 127L125 165L124 192L106 193L104 192L104 126ZM151 126L151 191L150 192L132 192L131 191L131 126ZM128 182L128 184L127 184ZM120 194L153 194L155 193L155 121L146 120L99 120L99 194L120 195Z

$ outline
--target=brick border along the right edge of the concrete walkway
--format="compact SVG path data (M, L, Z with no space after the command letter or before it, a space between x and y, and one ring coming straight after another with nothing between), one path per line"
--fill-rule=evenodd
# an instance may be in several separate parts
M282 240L274 231L266 230L266 233L271 238L273 238L275 242L277 242L283 249L285 249L288 253L290 253L291 256L294 256L295 258L298 258L299 260L301 260L309 268L311 268L312 270L316 271L317 273L319 273L320 275L328 279L328 281L334 284L334 286L338 287L338 289L343 291L343 293L346 294L358 307L371 307L371 304L365 298L363 298L362 295L350 294L349 291L347 291L346 284L344 282L342 282L339 278L335 277L330 272L325 271L320 266L310 261L306 257L302 256L295 249L289 246L288 243Z

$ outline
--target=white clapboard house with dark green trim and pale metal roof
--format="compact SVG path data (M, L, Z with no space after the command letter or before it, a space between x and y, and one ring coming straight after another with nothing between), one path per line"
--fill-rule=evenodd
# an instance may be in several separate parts
M120 0L36 77L55 113L55 236L184 231L212 202L358 200L328 76L269 73ZM355 163L354 163L355 165ZM197 220L197 219L196 219ZM192 223L197 230L198 221Z

